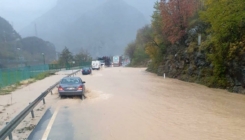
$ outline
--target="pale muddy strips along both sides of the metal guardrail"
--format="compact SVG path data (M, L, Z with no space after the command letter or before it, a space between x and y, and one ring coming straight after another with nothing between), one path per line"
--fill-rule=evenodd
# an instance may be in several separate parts
M43 80L36 81L29 85L23 85L11 94L0 96L0 130L6 125L6 122L10 122L15 116L17 116L30 102L34 101L43 91L49 88L54 83L58 82L61 78L72 73L74 71L60 71L56 75L47 77ZM36 126L40 118L45 111L57 101L58 97L57 89L53 90L53 95L48 94L45 98L46 104L41 102L34 109L35 118L29 114L13 131L14 140L26 139L33 128Z

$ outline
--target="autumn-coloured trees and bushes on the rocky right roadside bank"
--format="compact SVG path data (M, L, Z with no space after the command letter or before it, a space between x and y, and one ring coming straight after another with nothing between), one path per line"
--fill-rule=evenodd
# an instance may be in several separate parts
M125 49L131 66L245 93L245 1L161 0Z

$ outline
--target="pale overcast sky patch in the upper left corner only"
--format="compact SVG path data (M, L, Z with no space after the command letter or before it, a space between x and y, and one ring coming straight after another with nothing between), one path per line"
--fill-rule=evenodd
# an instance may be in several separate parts
M56 3L57 0L0 0L0 16L20 31Z

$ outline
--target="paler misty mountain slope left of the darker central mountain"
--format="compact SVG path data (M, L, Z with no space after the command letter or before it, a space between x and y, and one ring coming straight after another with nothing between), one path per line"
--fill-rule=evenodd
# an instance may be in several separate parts
M103 1L105 0L58 0L54 8L22 29L20 34L24 37L38 36L54 42L58 47L63 47L63 45L59 46L57 37L63 34L82 14L95 9Z

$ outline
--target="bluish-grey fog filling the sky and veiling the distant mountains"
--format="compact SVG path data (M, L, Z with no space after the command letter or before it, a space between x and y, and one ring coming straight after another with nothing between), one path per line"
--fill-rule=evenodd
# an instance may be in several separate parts
M0 0L0 16L22 37L38 36L93 56L122 54L150 23L156 0ZM35 27L36 26L36 27Z

